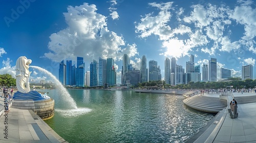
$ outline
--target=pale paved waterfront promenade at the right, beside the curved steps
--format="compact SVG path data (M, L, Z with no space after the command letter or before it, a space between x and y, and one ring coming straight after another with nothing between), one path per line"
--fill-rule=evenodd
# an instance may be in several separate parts
M256 96L256 93L233 93L234 99L245 96ZM204 96L219 98L216 93L205 93ZM231 118L228 112L229 102L232 100L228 96L228 106L220 111L208 125L199 133L190 138L187 142L256 142L256 102L240 104L238 102L238 117Z

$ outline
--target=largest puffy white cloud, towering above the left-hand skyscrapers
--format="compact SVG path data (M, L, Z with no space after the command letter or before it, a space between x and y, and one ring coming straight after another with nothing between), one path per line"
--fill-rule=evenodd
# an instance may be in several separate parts
M59 62L63 59L76 60L97 59L98 57L120 60L123 56L122 47L131 47L137 54L135 44L125 45L124 38L109 31L106 17L96 12L95 5L84 3L80 6L69 6L63 13L68 27L50 36L45 57ZM131 56L135 55L131 52Z

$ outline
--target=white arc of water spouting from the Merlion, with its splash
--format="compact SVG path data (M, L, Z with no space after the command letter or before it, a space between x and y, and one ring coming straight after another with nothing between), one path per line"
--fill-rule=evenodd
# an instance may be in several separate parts
M65 100L67 104L69 104L69 106L67 106L67 107L71 108L68 110L55 109L55 111L59 112L63 117L78 116L81 114L86 114L91 111L91 109L89 109L89 108L77 108L76 102L70 96L68 90L62 86L62 84L59 82L59 80L57 80L57 78L55 76L53 76L53 74L50 73L50 71L48 71L44 68L38 67L38 66L30 65L30 67L36 68L36 69L44 72L45 74L49 75L54 80L54 82L57 84L57 88L59 89L61 96L63 96L62 99Z

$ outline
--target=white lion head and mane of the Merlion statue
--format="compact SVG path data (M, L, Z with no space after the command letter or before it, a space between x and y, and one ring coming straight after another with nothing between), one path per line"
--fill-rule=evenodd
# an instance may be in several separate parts
M16 77L20 76L20 74L22 74L24 71L25 73L25 77L29 77L30 73L29 73L29 64L31 64L32 60L27 59L27 57L25 56L21 56L17 59L16 61Z

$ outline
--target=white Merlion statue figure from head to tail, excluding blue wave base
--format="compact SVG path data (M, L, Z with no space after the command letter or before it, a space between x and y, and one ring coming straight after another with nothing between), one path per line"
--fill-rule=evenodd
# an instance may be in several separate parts
M29 87L29 64L32 60L27 59L25 56L21 56L16 61L16 86L19 92L28 93L30 91Z

